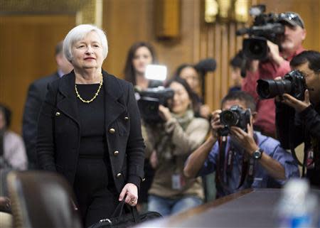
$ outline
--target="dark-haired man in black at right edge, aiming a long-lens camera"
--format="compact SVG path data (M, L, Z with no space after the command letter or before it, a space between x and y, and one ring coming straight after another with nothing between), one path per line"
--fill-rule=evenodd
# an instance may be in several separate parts
M311 185L320 187L320 53L308 50L295 56L294 70L304 75L303 99L283 94L276 99L276 125L279 141L284 148L293 149L304 142L304 165Z

